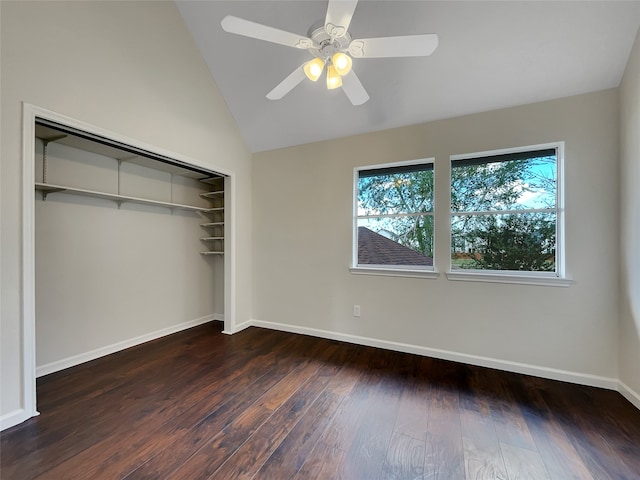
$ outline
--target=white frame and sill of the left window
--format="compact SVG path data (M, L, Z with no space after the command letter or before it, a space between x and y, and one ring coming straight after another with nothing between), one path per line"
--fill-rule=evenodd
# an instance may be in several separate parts
M438 278L439 273L435 270L434 266L416 266L416 265L370 265L370 264L358 264L358 220L362 218L368 218L369 216L358 215L358 178L362 171L377 170L382 168L404 167L414 165L426 165L431 164L435 175L435 158L422 158L418 160L409 160L402 162L392 162L377 165L367 165L362 167L356 167L353 169L353 215L352 215L352 251L351 251L351 267L349 271L358 275L381 275L391 277L410 277L410 278ZM434 190L435 190L435 177L434 177ZM420 215L431 216L434 223L435 232L435 199L433 200L434 209L432 212L421 213ZM398 215L375 215L376 218L381 216L395 217ZM435 234L434 234L434 252L435 252Z

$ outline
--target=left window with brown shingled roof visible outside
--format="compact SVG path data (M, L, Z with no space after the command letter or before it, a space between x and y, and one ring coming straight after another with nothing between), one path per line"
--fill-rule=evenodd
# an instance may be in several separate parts
M356 169L354 265L433 271L433 161Z

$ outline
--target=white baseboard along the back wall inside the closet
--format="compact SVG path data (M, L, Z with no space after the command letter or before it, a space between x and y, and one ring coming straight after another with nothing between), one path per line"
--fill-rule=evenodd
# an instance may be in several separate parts
M36 378L42 377L43 375L48 375L50 373L58 372L60 370L64 370L65 368L75 367L76 365L80 365L81 363L95 360L96 358L104 357L105 355L110 355L115 352L119 352L120 350L124 350L125 348L135 347L136 345L140 345L141 343L149 342L166 335L171 335L172 333L177 333L182 330L186 330L187 328L196 327L198 325L202 325L203 323L211 322L214 320L220 320L220 317L223 316L217 313L206 315L204 317L196 318L195 320L190 320L188 322L179 323L178 325L173 325L161 330L156 330L155 332L140 335L139 337L130 338L128 340L117 342L112 345L107 345L105 347L96 348L95 350L81 353L79 355L74 355L72 357L63 358L62 360L57 360L45 365L40 365L36 367Z

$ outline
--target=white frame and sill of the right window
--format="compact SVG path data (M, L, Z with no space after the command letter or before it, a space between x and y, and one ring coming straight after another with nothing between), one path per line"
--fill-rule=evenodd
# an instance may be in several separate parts
M451 259L449 260L449 270L446 272L448 280L495 282L495 283L516 283L528 285L546 285L568 287L573 281L566 277L565 273L565 222L564 222L564 142L546 143L541 145L528 145L525 147L508 148L501 150L491 150L486 152L476 152L449 157L449 198L451 198L451 172L452 163L455 160L476 159L491 157L494 155L504 155L521 153L535 150L555 149L556 150L556 271L555 272L524 272L509 270L453 270ZM518 213L526 213L523 210ZM533 210L529 210L533 211ZM487 212L473 212L473 214ZM490 213L494 213L493 211ZM500 214L496 211L495 214ZM451 219L460 212L451 210L449 202L449 251L451 251Z

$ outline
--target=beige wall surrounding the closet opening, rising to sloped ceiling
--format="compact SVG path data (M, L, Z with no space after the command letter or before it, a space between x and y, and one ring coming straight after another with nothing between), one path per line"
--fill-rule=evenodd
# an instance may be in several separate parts
M235 173L237 298L232 307L239 322L251 318L251 156L172 2L2 1L0 9L0 419L6 424L23 408L22 102ZM146 286L152 287L153 282ZM137 313L110 334L139 335Z

